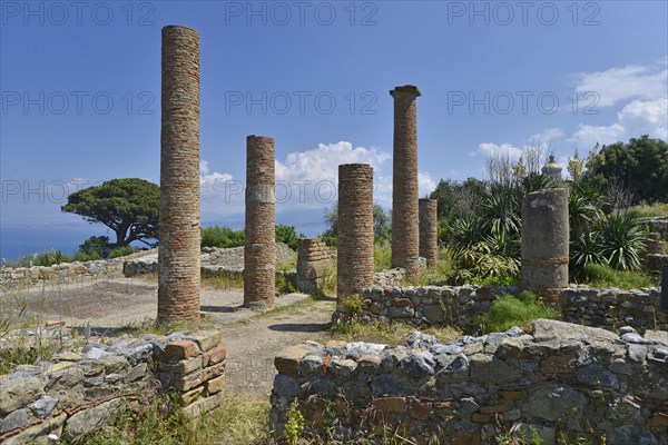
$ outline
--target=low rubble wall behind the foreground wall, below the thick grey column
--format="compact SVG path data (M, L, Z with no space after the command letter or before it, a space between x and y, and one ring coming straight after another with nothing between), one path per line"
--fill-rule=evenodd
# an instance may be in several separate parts
M361 293L361 320L444 324L473 332L478 328L473 320L489 312L497 296L519 293L518 287L373 286ZM639 332L668 329L668 314L660 312L660 297L658 287L623 290L576 286L558 295L561 317L567 322L608 329L628 325Z

